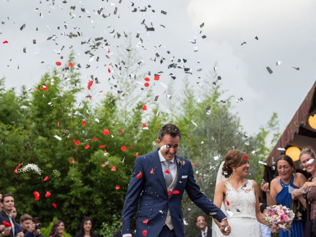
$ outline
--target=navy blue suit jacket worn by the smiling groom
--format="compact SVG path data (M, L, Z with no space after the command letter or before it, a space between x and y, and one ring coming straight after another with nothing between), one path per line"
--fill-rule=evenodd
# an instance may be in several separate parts
M201 210L222 221L226 217L225 214L200 191L188 159L175 157L178 180L173 191L168 194L158 150L139 156L135 160L122 211L122 235L131 233L131 222L139 201L136 218L137 237L143 237L144 231L147 231L147 236L158 236L165 223L168 209L175 235L184 237L181 201L185 190Z

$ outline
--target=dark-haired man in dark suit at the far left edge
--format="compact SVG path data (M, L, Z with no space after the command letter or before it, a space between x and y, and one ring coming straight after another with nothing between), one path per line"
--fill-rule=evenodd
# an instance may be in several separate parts
M0 199L0 205L2 207L2 211L0 212L0 223L6 221L9 225L11 225L10 235L8 237L24 237L23 232L17 233L17 229L15 226L15 220L11 216L11 211L14 207L14 197L12 194L4 194Z

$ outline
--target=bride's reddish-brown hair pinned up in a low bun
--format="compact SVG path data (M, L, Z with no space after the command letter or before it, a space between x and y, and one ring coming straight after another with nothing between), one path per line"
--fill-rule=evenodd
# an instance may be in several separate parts
M230 150L225 156L222 175L228 178L233 173L234 167L239 167L247 162L248 156L238 150Z

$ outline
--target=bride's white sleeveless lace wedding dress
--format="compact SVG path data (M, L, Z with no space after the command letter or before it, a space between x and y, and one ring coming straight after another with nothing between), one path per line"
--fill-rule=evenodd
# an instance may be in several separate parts
M256 218L256 197L253 180L237 190L229 183L224 205L228 223L232 228L230 237L261 237L259 222Z

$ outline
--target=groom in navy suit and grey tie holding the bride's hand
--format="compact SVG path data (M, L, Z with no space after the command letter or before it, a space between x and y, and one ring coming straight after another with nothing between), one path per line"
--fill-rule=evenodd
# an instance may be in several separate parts
M137 237L184 237L181 201L184 190L190 199L221 225L229 235L225 214L200 191L191 162L176 156L181 133L174 124L163 125L158 132L155 152L135 160L122 212L122 237L131 237L131 222L137 203ZM225 231L226 230L226 231Z

